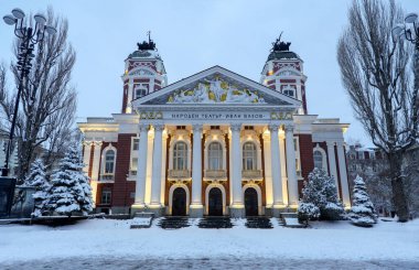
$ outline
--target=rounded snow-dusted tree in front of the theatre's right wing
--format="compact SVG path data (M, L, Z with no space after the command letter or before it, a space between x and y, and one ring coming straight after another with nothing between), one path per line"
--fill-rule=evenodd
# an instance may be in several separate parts
M341 219L344 215L342 203L337 198L334 179L324 170L314 168L302 190L303 204L311 203L320 209L321 219Z

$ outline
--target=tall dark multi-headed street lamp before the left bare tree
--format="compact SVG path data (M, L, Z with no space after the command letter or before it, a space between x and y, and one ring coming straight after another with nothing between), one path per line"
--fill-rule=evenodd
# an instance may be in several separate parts
M35 28L26 26L24 22L24 12L21 9L13 9L12 14L3 17L3 21L9 25L14 25L14 34L20 40L19 42L19 54L17 67L20 72L19 87L17 100L14 104L14 112L12 118L12 126L10 128L9 143L6 152L4 168L1 169L1 176L9 175L9 158L11 152L11 145L13 140L15 121L18 118L19 101L23 88L23 80L28 77L31 71L31 61L35 55L33 54L35 50L35 44L44 40L45 34L55 34L56 30L53 26L46 25L46 19L42 14L35 14L33 19L35 20ZM31 25L31 24L29 24Z

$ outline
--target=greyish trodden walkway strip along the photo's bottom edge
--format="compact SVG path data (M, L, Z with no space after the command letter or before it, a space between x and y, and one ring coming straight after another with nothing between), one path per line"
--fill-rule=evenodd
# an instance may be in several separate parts
M42 261L0 263L3 270L37 269L419 269L419 261L348 261L348 260L304 260L304 259L146 259L133 258L67 258Z

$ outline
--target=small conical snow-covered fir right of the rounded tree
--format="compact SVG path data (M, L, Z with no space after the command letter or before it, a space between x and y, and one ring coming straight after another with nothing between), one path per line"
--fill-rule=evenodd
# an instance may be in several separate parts
M350 218L357 226L370 227L377 222L375 208L366 191L364 180L357 175L354 181L353 203Z

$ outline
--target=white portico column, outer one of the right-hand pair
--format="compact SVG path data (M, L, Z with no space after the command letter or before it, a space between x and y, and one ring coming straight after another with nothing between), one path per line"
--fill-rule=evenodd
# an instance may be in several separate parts
M296 148L293 126L286 126L286 145L287 145L287 173L288 173L288 194L289 205L296 207L298 205L298 182L296 169Z

